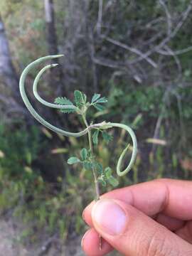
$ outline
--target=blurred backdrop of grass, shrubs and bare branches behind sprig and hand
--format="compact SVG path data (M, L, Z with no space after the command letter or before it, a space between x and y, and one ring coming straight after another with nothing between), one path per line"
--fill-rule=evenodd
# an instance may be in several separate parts
M1 255L83 255L81 213L94 196L92 174L66 164L87 138L54 134L23 105L19 77L36 58L65 54L58 68L43 75L43 98L73 100L74 90L89 99L100 93L108 98L107 110L91 112L90 119L122 122L136 132L137 161L119 187L191 179L191 17L188 0L1 0ZM28 75L26 87L38 113L57 127L80 131L74 114L36 102L31 88L37 73ZM129 137L119 130L112 135L96 154L115 175Z

